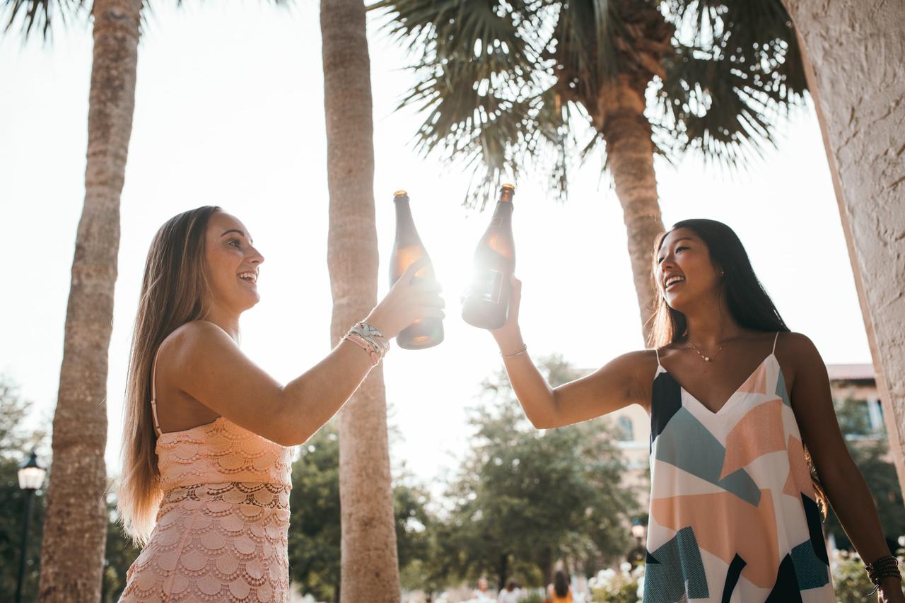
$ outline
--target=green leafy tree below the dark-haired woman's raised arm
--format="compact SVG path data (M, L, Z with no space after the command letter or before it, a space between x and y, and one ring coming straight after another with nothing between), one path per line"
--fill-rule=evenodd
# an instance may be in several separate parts
M575 377L557 357L541 367L553 385ZM452 512L437 535L447 575L475 579L487 572L501 585L517 574L547 584L557 559L589 566L623 554L636 503L620 485L625 468L613 430L591 421L538 431L505 373L483 392L487 403L470 418L472 450L450 486Z

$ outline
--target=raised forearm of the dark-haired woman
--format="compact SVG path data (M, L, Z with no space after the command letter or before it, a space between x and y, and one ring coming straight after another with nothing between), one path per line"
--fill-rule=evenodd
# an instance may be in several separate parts
M534 366L528 352L518 353L519 350L525 349L521 334L519 332L494 333L494 339L497 340L500 347L500 354L503 356L512 391L519 399L531 424L538 429L555 425L556 393L553 388L550 388L547 379Z

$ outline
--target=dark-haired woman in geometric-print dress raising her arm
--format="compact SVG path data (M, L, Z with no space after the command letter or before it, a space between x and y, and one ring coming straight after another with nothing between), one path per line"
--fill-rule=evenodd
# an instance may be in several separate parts
M826 498L870 562L880 600L905 601L836 422L824 362L811 340L788 330L738 236L713 220L674 225L654 245L653 279L651 349L558 388L521 338L514 277L509 321L491 331L538 429L631 404L650 414L644 602L834 601ZM593 336L605 336L605 323L597 328Z

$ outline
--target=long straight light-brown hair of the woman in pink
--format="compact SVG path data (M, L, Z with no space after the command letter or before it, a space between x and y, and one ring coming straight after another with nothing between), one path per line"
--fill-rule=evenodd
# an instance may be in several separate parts
M129 352L117 504L123 528L138 544L148 541L163 496L151 414L151 370L163 340L205 315L209 291L205 234L211 215L219 211L217 206L202 206L170 218L148 250Z

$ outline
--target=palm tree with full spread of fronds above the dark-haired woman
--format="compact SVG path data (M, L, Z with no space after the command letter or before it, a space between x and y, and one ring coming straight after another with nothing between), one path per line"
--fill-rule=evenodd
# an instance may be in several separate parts
M601 158L623 206L645 338L651 249L662 233L654 155L694 150L733 167L773 142L803 101L780 0L378 0L408 43L427 112L424 153L474 168L466 203L525 169L567 196L576 155ZM605 148L605 152L604 151ZM580 154L573 150L581 150ZM601 151L601 152L595 152Z

